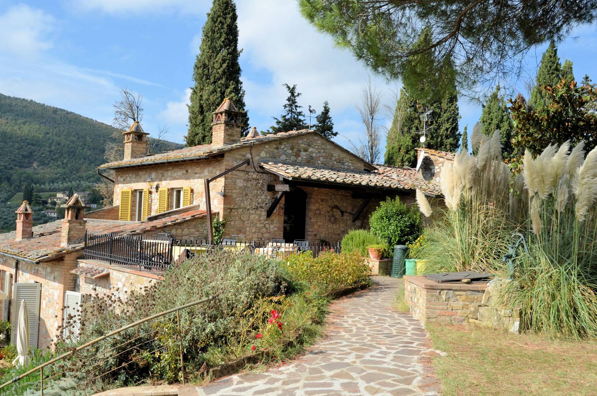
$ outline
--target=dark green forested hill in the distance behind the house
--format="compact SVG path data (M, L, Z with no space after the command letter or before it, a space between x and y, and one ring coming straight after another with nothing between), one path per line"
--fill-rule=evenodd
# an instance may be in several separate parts
M106 162L104 144L113 131L71 111L0 94L0 191L19 192L25 182L99 180L96 167ZM164 142L161 150L181 147Z

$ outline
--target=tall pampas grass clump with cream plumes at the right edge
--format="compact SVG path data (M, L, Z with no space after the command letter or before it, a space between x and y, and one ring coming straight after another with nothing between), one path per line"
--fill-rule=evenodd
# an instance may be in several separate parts
M565 142L523 159L529 254L516 261L507 299L550 336L597 337L597 148L584 159L583 149Z

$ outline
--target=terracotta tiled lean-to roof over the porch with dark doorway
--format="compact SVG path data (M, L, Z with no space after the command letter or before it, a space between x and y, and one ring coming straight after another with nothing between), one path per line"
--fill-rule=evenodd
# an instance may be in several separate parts
M413 169L376 165L373 172L365 170L333 169L279 162L262 162L264 169L288 179L329 181L338 184L366 185L395 190L414 190L419 187L430 194L439 194L439 186L425 181Z

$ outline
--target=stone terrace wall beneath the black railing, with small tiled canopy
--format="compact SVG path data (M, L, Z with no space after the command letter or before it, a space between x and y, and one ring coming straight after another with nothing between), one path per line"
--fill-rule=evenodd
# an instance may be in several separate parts
M122 300L127 299L127 294L131 291L140 291L144 287L158 282L162 276L153 273L141 272L126 267L110 266L104 261L99 260L78 260L79 267L96 267L106 269L109 275L101 276L97 279L86 278L83 275L75 275L76 284L73 290L91 297L99 294L114 293Z

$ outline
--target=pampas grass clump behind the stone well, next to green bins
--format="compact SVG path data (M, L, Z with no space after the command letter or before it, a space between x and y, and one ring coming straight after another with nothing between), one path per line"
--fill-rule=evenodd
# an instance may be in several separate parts
M499 131L488 138L479 129L475 127L472 136L479 155L457 154L442 169L440 186L446 208L441 220L425 231L427 245L417 252L417 258L426 260L428 273L506 269L501 257L516 229L509 219L511 173L501 162ZM417 194L417 203L429 217L423 194Z

